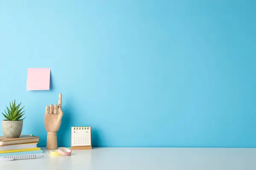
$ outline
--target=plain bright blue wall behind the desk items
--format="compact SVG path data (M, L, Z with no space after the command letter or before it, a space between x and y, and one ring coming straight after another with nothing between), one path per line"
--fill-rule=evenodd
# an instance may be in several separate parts
M89 125L93 146L256 147L255 9L253 0L1 2L0 110L23 102L23 134L40 146L45 105L62 93L58 146L70 146L71 126ZM51 90L26 91L27 68L51 68Z

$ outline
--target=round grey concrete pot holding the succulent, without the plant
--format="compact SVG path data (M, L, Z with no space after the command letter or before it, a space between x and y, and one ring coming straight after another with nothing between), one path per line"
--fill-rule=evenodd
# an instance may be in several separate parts
M23 120L2 120L3 136L6 138L18 138L23 127Z

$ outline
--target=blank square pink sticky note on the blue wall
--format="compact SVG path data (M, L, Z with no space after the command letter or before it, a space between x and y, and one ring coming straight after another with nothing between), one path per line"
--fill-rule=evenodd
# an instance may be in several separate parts
M50 89L50 68L28 68L27 91Z

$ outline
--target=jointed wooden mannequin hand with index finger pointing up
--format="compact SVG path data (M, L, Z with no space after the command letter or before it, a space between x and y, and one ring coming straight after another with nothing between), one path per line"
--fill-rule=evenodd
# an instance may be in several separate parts
M47 149L57 149L57 132L61 126L63 111L61 109L62 95L59 94L58 106L47 105L44 113L44 127L47 131ZM57 112L58 111L58 112Z

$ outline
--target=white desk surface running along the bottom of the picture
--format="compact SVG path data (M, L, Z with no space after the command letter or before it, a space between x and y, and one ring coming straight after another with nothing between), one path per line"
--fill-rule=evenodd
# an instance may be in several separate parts
M72 150L71 156L0 162L0 170L255 170L256 148L129 148Z

